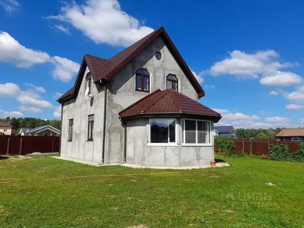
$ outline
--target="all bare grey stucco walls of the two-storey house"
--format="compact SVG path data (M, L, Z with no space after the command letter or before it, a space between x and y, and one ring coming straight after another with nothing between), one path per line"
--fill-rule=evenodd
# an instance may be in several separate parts
M161 60L155 52L161 52ZM198 94L185 76L161 37L155 38L136 57L127 63L112 81L107 84L107 108L104 113L105 87L92 84L92 97L85 97L86 80L83 81L77 98L67 100L62 108L61 157L102 163L102 134L105 128L104 164L124 163L124 126L118 112L147 96L147 92L135 91L135 71L146 69L150 74L150 93L156 89L166 89L168 74L176 75L178 91L198 101ZM88 115L94 114L93 141L87 141ZM74 120L73 139L68 141L69 119ZM178 122L180 124L180 120ZM213 145L213 123L211 124L211 144ZM178 125L180 129L180 125ZM179 132L179 131L178 131ZM180 138L180 136L178 136ZM206 166L214 160L213 146L147 146L148 119L127 122L126 163L142 166ZM180 139L178 142L180 143Z

